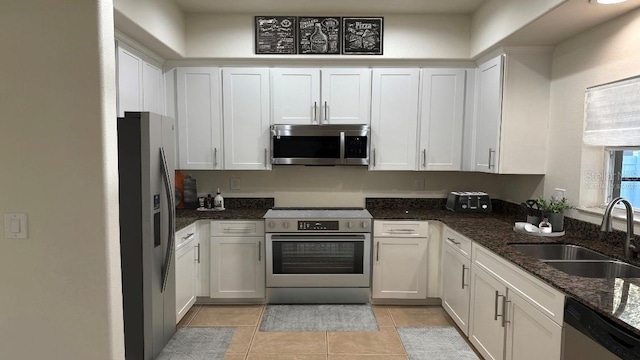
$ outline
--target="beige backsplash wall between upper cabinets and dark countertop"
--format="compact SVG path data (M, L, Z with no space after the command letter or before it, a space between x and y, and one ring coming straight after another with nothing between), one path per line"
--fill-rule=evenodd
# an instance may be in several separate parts
M468 172L368 171L366 167L274 166L272 171L184 171L197 180L198 194L274 197L276 206L364 206L366 197L446 197L450 191L485 191L521 202L541 191L542 176ZM231 178L240 190L230 190ZM413 181L424 182L415 191ZM512 184L518 183L518 188Z

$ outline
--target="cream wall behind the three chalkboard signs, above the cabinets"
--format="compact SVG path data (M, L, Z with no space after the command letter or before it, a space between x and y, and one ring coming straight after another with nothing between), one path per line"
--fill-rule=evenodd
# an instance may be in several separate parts
M188 14L188 58L223 59L469 59L470 17L463 15L386 15L384 55L255 55L254 16Z

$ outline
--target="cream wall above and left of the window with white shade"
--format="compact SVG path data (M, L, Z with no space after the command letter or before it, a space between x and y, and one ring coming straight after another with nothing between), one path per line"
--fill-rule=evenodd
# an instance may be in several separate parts
M550 134L545 195L567 189L574 204L602 202L601 148L582 145L584 94L587 87L640 75L640 9L559 44L553 55ZM579 199L579 201L578 201ZM599 222L599 216L573 211L573 217Z

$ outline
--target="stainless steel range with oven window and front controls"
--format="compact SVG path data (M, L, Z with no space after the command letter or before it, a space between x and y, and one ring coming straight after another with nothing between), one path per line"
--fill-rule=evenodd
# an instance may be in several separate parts
M274 208L264 219L268 303L369 302L367 210Z

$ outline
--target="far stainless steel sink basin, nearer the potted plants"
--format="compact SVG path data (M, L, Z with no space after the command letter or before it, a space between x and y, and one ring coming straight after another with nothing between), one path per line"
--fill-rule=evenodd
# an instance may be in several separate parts
M582 246L568 244L510 244L521 253L540 260L611 260Z

